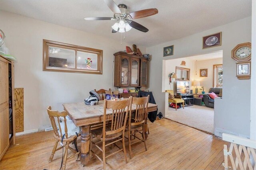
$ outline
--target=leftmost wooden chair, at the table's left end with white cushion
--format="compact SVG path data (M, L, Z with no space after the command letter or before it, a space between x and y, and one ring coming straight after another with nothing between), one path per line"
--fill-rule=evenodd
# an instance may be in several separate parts
M52 110L52 107L51 106L48 106L47 107L47 112L48 112L48 115L49 115L49 118L50 118L50 121L52 123L52 128L53 128L53 131L54 131L54 138L55 138L55 145L52 149L52 154L49 158L49 162L52 162L52 158L55 154L55 152L57 150L60 150L62 149L62 147L59 147L57 149L57 146L58 146L58 143L62 141L62 137L64 135L64 139L63 139L63 147L65 147L65 154L64 154L64 158L63 158L63 164L62 164L62 170L65 170L66 169L66 162L67 160L73 158L74 156L78 155L80 152L79 151L76 151L75 149L71 148L69 146L70 143L74 142L75 145L77 144L76 143L76 139L77 139L77 135L72 135L70 137L68 137L68 127L67 127L67 123L66 123L66 116L68 115L68 113L66 111L62 111L62 112L59 112L59 111L54 111ZM65 124L65 129L61 129L61 126L60 126L60 116L64 117L64 124ZM58 121L58 126L59 126L59 131L58 131L58 127L56 125L56 121L55 121L55 118L57 119ZM63 133L62 133L62 130ZM80 134L78 134L79 136ZM66 143L66 144L64 144ZM74 154L72 154L70 157L68 157L68 149L70 149Z

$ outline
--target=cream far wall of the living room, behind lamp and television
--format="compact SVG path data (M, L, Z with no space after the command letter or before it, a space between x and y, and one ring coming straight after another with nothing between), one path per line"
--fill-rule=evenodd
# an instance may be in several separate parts
M209 88L213 87L213 65L214 64L222 64L222 58L211 59L211 60L202 60L195 61L195 70L197 68L197 74L194 75L195 81L200 81L200 86L204 86L204 91L209 92ZM208 69L207 77L200 77L200 69ZM195 87L193 87L194 90ZM201 93L199 90L201 87L198 87L198 93Z

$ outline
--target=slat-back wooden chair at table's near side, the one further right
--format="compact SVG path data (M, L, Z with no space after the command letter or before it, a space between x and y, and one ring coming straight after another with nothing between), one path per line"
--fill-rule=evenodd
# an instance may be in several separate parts
M132 158L132 147L131 145L142 141L144 143L145 150L147 151L146 145L146 137L145 137L145 122L147 119L147 110L148 110L148 100L149 95L143 98L132 98L132 104L135 104L136 110L135 115L132 115L132 112L129 114L128 127L126 127L126 131L128 131L128 141L129 141L129 154L130 159ZM133 131L133 133L132 133ZM143 139L140 139L136 136L136 133L140 133ZM134 139L137 138L139 141L131 143L131 137L134 136Z

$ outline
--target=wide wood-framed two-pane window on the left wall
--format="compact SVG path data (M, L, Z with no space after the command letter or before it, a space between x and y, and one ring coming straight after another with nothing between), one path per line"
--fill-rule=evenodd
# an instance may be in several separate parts
M102 50L43 40L43 70L102 74Z

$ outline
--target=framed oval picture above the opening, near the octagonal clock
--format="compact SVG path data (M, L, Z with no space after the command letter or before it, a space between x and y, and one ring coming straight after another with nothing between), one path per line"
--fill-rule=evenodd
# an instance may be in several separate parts
M221 45L221 32L203 37L203 49Z

